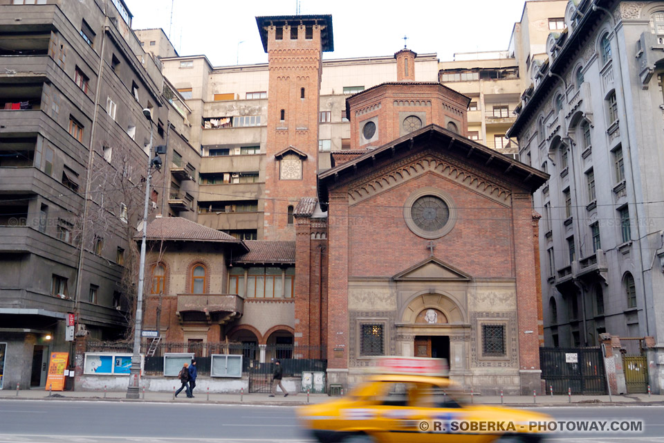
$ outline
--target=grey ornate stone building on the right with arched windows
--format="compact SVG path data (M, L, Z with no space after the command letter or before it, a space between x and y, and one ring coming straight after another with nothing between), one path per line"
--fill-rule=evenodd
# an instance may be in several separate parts
M546 345L664 343L664 3L570 1L508 135L551 174L535 193ZM649 383L663 388L661 356Z

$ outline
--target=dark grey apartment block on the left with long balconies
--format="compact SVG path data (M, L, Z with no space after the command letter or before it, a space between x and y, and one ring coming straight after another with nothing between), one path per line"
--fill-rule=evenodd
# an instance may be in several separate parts
M151 216L200 163L157 62L122 0L0 1L2 388L44 386L75 334L126 331L150 144L194 154L153 171Z

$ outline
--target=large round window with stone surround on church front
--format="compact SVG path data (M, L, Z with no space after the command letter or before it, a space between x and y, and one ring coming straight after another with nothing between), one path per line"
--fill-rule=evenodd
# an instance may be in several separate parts
M443 237L457 218L452 198L438 188L422 188L408 197L403 208L406 225L419 237Z

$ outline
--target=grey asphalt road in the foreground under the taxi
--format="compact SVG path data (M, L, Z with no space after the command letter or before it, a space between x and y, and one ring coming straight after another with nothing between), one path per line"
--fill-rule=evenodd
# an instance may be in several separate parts
M552 443L664 443L664 406L537 408L556 419L640 419L643 433L557 434ZM0 443L306 443L279 406L0 400Z

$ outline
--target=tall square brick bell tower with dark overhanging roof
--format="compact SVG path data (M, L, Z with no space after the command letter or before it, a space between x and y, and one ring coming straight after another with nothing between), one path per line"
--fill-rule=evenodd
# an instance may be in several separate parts
M317 197L322 51L333 51L331 15L256 17L268 53L264 239L293 240L293 209Z

